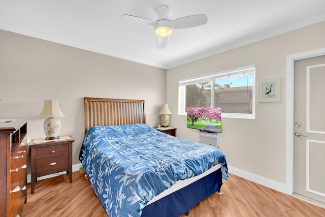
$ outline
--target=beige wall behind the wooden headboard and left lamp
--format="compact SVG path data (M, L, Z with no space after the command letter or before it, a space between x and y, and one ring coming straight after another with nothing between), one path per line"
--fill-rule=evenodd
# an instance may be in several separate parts
M28 140L44 137L43 100L58 100L60 135L84 136L84 97L144 99L147 123L166 103L166 70L0 30L0 117L27 116Z

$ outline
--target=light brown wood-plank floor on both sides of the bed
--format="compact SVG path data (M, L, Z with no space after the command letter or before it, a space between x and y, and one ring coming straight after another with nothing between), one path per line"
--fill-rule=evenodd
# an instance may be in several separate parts
M325 216L325 208L285 195L262 185L229 175L222 195L213 194L189 211L189 217L214 216ZM60 175L37 181L35 193L27 188L22 216L107 216L84 173ZM185 217L183 214L181 217Z

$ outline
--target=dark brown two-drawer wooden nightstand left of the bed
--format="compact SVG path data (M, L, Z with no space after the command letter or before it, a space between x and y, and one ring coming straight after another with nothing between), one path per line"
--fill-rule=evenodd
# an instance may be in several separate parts
M62 171L69 174L72 183L72 143L71 136L59 139L34 139L29 144L31 154L31 194L34 194L37 178Z

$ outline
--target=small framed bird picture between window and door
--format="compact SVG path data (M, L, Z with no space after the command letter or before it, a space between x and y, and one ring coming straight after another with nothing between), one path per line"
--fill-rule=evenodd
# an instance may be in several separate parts
M281 102L281 78L258 80L258 102Z

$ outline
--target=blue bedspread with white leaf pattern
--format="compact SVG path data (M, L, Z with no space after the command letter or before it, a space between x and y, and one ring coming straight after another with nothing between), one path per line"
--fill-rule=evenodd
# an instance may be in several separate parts
M146 124L101 126L88 130L79 160L107 214L141 216L154 196L177 180L199 175L221 164L218 149L159 132Z

